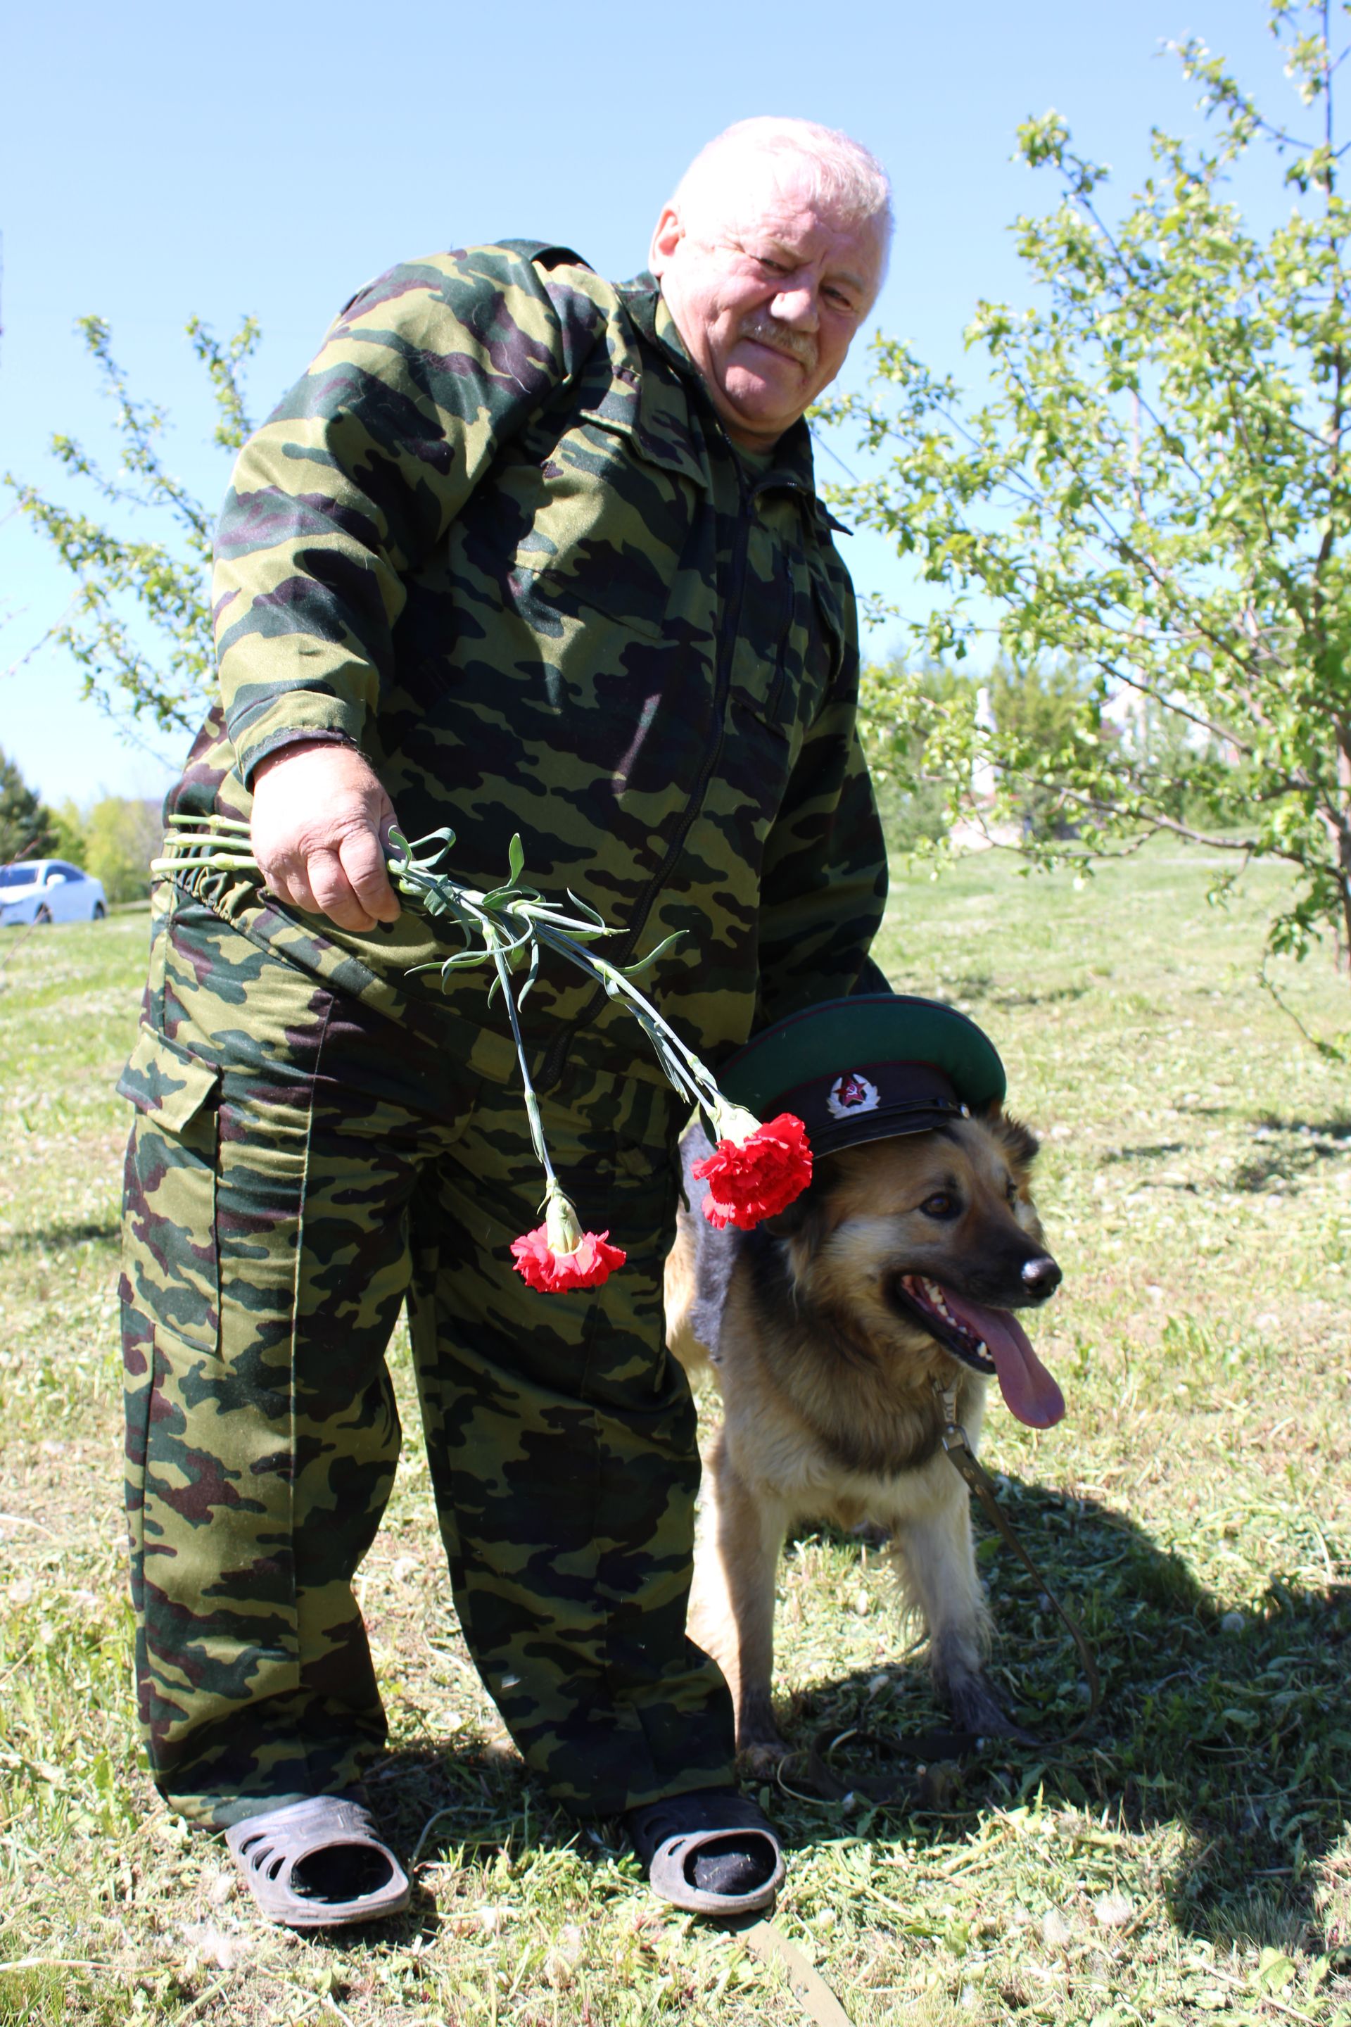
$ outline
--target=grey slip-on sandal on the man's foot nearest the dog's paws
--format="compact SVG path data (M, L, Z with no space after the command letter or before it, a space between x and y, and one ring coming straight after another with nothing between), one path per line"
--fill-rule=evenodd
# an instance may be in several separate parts
M628 1832L652 1891L689 1913L723 1918L770 1907L784 1853L770 1818L735 1788L697 1788L630 1808Z

